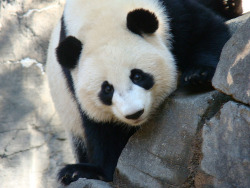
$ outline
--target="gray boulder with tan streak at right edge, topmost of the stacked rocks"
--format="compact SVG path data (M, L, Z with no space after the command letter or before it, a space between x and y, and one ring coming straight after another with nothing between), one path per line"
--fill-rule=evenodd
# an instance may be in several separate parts
M224 46L212 84L235 100L250 104L250 18Z

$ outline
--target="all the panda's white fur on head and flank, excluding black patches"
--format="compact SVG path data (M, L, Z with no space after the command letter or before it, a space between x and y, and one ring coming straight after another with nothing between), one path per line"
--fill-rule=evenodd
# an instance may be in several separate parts
M76 95L84 112L92 119L120 121L130 125L144 123L150 114L176 87L176 67L168 35L166 13L156 0L71 0L65 6L68 35L83 43L78 66L72 71ZM153 35L138 36L126 27L128 12L144 8L154 12L159 29ZM47 73L55 105L66 126L82 132L76 104L55 58L60 27L57 26L49 47ZM130 80L131 69L141 69L154 77L155 85L145 90ZM101 85L114 86L112 105L99 97ZM126 115L144 109L138 120ZM81 131L80 131L81 130Z

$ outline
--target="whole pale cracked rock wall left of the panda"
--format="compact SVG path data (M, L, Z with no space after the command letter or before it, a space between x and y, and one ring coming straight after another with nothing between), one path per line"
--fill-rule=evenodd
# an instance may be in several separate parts
M57 170L74 160L42 64L63 2L0 6L0 187L56 187Z

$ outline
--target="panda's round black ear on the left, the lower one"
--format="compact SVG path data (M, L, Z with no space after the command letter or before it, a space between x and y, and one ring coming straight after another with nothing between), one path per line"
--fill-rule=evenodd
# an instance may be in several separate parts
M82 43L73 36L68 36L56 48L58 62L65 68L76 67L82 51Z

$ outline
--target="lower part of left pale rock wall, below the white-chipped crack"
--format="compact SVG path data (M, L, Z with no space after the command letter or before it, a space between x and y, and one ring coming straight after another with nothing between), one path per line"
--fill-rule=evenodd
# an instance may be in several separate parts
M74 162L50 98L42 65L0 64L0 185L56 187L56 173Z

